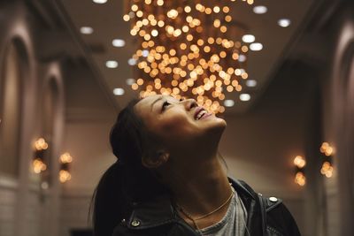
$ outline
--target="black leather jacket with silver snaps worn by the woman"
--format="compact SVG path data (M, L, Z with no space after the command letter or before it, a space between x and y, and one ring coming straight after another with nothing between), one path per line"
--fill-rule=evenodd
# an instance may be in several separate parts
M246 183L229 179L248 211L250 235L300 235L289 210L275 197L256 194ZM169 198L154 202L135 203L127 219L114 229L113 236L196 236L199 235L173 209ZM246 232L248 236L248 232ZM233 235L226 235L233 236Z

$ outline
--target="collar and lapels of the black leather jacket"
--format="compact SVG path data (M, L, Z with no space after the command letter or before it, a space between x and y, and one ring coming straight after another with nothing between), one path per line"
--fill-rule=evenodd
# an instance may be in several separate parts
M247 225L249 227L253 222L257 194L244 182L231 178L228 179L237 194L240 195L248 211L249 220ZM147 229L181 220L174 211L171 199L167 195L161 196L151 202L134 202L133 206L134 209L127 222L127 227L130 229Z

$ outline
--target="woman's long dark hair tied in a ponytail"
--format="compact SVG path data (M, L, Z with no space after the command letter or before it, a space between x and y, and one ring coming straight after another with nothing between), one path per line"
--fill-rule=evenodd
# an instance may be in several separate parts
M145 202L161 194L168 194L154 173L142 165L149 135L142 119L135 114L134 99L119 112L112 127L110 141L118 160L104 172L92 196L93 228L95 236L112 236L113 229L128 217L132 202Z

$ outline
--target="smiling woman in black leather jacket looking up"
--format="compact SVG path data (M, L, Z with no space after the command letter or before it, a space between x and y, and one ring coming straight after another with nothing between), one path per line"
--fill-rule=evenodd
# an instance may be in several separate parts
M95 235L300 235L281 200L227 178L226 126L193 99L129 103L111 132L118 161L94 194Z

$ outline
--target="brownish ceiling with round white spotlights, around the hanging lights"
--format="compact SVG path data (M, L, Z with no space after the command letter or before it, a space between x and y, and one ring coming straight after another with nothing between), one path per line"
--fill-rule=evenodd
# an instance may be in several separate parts
M256 42L263 44L260 51L250 51L248 55L249 80L257 80L255 88L243 87L241 93L250 94L250 101L242 102L239 92L226 92L226 99L235 101L234 107L228 107L227 113L242 113L261 98L275 72L286 58L291 45L302 33L309 15L312 15L316 0L255 0L249 5L242 1L231 3L231 15L239 24L247 28L247 34L253 34ZM127 85L127 79L133 76L133 66L127 61L135 52L133 36L129 34L129 22L123 20L124 1L107 0L105 4L96 4L93 0L61 0L73 22L82 42L91 49L90 54L98 68L99 76L103 77L110 91L124 88L125 94L115 96L119 107L138 95ZM264 5L265 14L256 14L253 7ZM278 26L279 19L290 19L289 27ZM81 27L92 27L92 34L81 34ZM112 46L113 39L123 39L126 45L121 48ZM119 66L107 68L107 60L116 60Z

